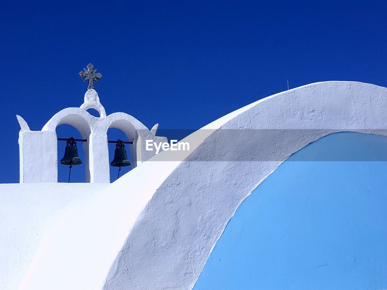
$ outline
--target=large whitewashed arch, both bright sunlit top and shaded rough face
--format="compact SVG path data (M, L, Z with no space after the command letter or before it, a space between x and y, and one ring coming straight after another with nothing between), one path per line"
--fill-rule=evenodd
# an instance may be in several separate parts
M190 152L152 157L63 216L20 289L192 289L236 208L265 177L329 133L384 135L386 107L384 87L322 82L230 113L185 138ZM275 140L238 133L273 128L321 130L284 130ZM226 129L238 130L230 139ZM162 161L176 154L184 161ZM216 161L236 155L243 161Z

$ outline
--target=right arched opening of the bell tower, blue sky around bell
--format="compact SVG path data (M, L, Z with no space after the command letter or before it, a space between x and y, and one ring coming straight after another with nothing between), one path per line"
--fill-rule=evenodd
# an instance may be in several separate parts
M118 139L123 140L123 141L133 142L133 140L130 140L130 138L122 130L120 130L118 128L109 128L108 129L108 140L117 141ZM132 144L125 144L125 149L127 152L128 160L130 161L130 163L133 164L132 157L131 157L131 153L133 150L132 147L133 147ZM116 143L108 143L108 148L109 148L109 164L110 164L110 162L114 158ZM132 168L133 168L132 165L121 167L120 176L123 176L123 174L129 172L130 170L132 170ZM110 182L114 182L117 180L118 169L119 169L119 167L110 166Z

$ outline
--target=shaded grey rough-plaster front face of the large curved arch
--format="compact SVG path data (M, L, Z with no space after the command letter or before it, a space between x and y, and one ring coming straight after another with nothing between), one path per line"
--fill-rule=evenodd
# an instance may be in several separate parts
M147 203L123 244L104 290L192 289L240 203L291 154L338 131L386 127L387 89L324 82L267 97L209 136ZM225 129L310 129L276 138ZM230 138L232 137L232 138ZM216 145L216 146L215 146ZM232 160L214 161L223 156ZM255 160L255 161L254 161ZM260 161L267 160L267 161Z

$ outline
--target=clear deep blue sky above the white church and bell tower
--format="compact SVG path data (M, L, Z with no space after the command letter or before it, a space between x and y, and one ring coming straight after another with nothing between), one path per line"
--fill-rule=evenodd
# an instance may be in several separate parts
M286 90L287 79L291 88L387 86L386 10L375 1L2 2L0 183L19 181L15 115L41 130L61 109L80 106L87 84L77 74L90 62L103 74L96 90L106 113L197 129ZM76 136L62 126L58 135Z

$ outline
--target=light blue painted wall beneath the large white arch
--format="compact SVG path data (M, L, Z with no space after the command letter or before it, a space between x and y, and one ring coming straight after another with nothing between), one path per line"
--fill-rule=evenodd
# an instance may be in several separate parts
M387 288L386 148L346 132L292 155L238 207L194 290Z

